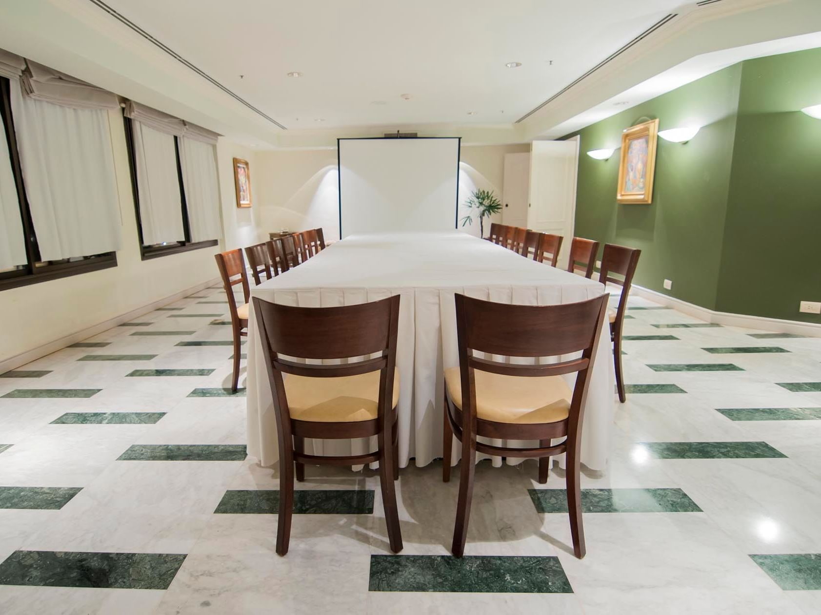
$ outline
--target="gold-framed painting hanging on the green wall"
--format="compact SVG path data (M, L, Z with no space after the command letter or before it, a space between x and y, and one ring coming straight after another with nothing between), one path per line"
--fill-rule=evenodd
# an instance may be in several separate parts
M618 167L619 203L653 203L658 119L631 126L621 133Z

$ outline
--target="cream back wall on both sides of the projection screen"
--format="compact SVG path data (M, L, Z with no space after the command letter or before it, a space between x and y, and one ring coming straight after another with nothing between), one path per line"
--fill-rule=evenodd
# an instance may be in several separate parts
M529 151L529 144L463 145L459 171L460 201L464 203L477 188L492 189L501 200L505 153ZM265 233L321 227L325 239L339 237L336 149L258 152L255 162L251 175L259 186L259 196L255 202L261 206L259 225ZM461 218L465 214L466 211L460 207L460 229L478 236L477 222L461 226ZM501 214L498 221L501 221ZM487 233L486 226L485 235Z

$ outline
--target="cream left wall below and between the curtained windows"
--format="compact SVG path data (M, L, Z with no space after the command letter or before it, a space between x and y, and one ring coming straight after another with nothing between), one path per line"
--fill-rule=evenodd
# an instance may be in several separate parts
M109 121L122 217L122 249L117 252L117 266L0 292L0 362L218 276L213 254L219 246L141 260L122 114L111 112ZM229 248L253 243L250 239L259 236L254 224L256 212L236 210L231 161L237 156L250 162L253 194L253 153L222 139L217 152L224 243Z

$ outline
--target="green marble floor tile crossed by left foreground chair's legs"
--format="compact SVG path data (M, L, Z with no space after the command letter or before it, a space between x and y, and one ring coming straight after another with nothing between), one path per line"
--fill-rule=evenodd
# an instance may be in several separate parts
M279 490L230 490L215 513L276 514ZM300 515L370 515L374 490L295 490L294 513Z

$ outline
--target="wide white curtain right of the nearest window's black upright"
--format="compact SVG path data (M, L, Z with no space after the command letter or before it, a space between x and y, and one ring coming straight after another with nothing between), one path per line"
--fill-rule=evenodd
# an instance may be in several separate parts
M108 111L34 100L11 81L25 193L44 261L121 246Z

